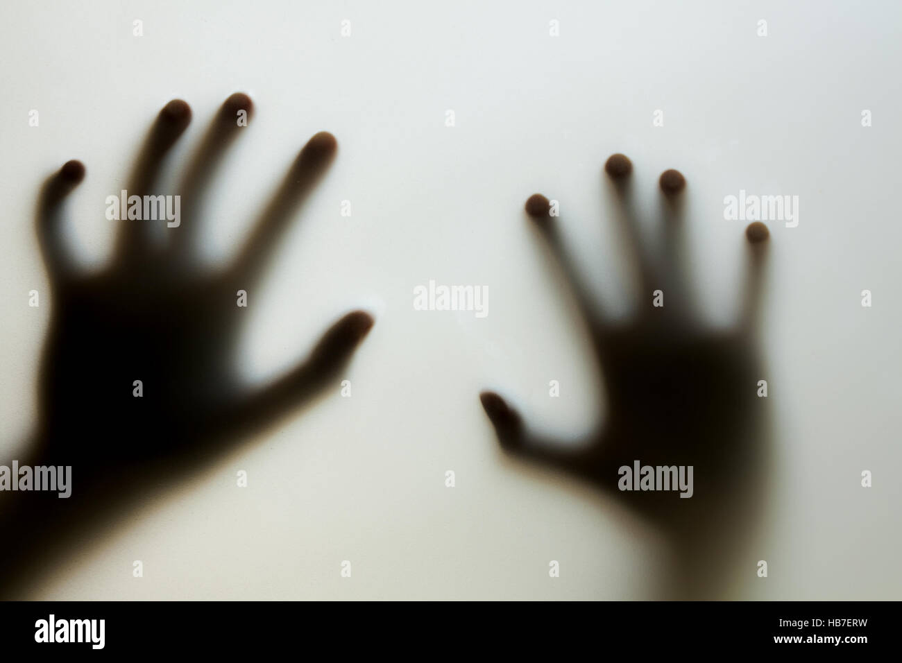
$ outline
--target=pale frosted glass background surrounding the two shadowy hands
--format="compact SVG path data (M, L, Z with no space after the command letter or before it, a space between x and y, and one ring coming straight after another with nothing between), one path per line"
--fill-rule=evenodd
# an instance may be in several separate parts
M477 398L500 389L530 424L565 436L603 416L603 367L587 361L573 301L522 203L537 190L561 201L582 268L626 313L601 177L607 156L624 152L649 209L661 170L686 175L693 268L714 324L735 312L743 255L745 224L723 219L723 197L800 198L796 228L769 225L774 508L732 595L898 598L900 18L895 2L4 3L2 457L36 417L49 313L48 299L27 306L29 290L47 288L37 188L62 162L86 163L69 230L86 268L100 265L115 223L104 198L170 98L194 110L179 163L229 94L256 104L207 206L209 261L235 250L311 134L339 142L251 293L236 358L248 379L294 364L345 310L377 318L345 375L352 398L336 385L179 493L149 494L36 595L657 595L658 534L590 488L502 456ZM657 109L663 127L652 125ZM873 126L861 126L863 109ZM350 218L339 215L345 198ZM430 279L488 286L489 316L414 311L413 288ZM864 289L872 308L861 307ZM241 469L246 489L235 486ZM339 576L345 559L351 579ZM767 580L755 576L759 559Z

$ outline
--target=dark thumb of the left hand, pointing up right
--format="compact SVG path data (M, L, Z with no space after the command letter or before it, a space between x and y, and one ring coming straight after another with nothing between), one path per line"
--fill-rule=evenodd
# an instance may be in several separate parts
M373 317L364 311L346 314L329 327L307 361L281 379L245 395L242 401L217 418L218 425L230 430L253 430L280 418L323 391L351 360L357 345L373 324Z

